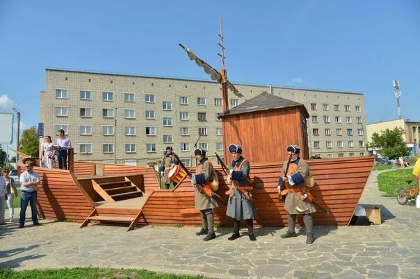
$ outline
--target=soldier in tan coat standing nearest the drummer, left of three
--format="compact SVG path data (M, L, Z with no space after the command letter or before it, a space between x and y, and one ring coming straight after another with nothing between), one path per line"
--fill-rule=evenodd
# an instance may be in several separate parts
M204 194L204 187L210 188L213 181L213 164L206 158L206 151L203 149L195 149L195 158L198 167L195 174L191 175L191 183L194 187L195 208L200 210L202 228L195 235L207 235L204 241L216 238L214 233L213 208L217 208L218 204L211 196ZM211 192L211 191L210 191Z

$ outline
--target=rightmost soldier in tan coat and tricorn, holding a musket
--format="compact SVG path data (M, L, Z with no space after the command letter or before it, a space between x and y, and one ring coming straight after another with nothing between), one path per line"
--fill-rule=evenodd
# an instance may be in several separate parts
M305 184L305 179L309 176L309 166L305 160L299 158L300 149L298 146L289 145L286 148L287 154L291 155L289 169L287 170L286 177L286 165L284 162L282 173L280 174L278 191L280 194L280 185L284 181L288 187L286 187L286 199L284 201L284 210L287 212L288 219L288 230L287 233L281 235L282 238L296 237L295 223L297 214L303 215L303 223L306 228L306 243L312 244L314 242L314 233L312 232L313 220L312 213L316 212L316 209L312 203L307 201L307 197L310 196L309 190ZM284 193L282 192L282 195Z

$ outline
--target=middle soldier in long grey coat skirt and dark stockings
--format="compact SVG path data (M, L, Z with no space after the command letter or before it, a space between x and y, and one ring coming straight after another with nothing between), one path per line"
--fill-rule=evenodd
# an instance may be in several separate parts
M229 145L229 152L232 153L233 160L229 166L229 176L227 183L232 184L227 202L226 215L234 219L234 233L229 240L234 240L239 235L241 220L246 220L248 226L248 237L251 241L257 240L254 235L253 221L257 211L251 201L250 189L250 162L242 157L242 148L236 144Z

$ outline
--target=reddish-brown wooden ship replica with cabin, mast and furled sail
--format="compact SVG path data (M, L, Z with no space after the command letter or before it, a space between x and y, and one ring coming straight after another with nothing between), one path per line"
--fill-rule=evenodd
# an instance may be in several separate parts
M257 208L255 226L287 226L286 211L277 194L278 179L287 159L287 145L298 144L300 157L309 157L306 127L309 114L304 105L268 93L228 110L227 90L239 96L240 93L227 81L221 27L220 39L223 61L220 72L186 47L181 47L191 60L204 67L204 71L222 85L223 146L241 144L243 156L250 161L250 177L254 183L252 199ZM19 156L27 157L23 153ZM226 148L223 158L225 164L229 164L232 158ZM348 225L371 173L374 158L363 156L307 162L316 180L316 185L311 188L314 200L328 211L318 210L314 214L314 224ZM23 171L22 162L18 166ZM227 176L222 167L216 166L215 169L219 180L217 193L226 198L225 192L229 189ZM81 227L90 221L129 223L128 230L138 224L200 226L191 180L181 171L172 177L174 189L161 189L152 167L73 162L71 153L69 170L41 167L34 170L42 181L38 185L38 212L47 219L78 221ZM192 168L191 172L194 171ZM225 205L219 203L214 212L215 223L232 226L232 220L225 214Z

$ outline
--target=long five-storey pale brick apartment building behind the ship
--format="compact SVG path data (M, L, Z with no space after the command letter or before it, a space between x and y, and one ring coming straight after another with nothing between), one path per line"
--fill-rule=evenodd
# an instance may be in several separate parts
M235 86L244 98L229 92L231 107L270 92L264 85ZM291 87L271 92L307 108L309 155L367 155L363 94ZM46 69L40 121L45 135L65 130L75 160L145 165L172 146L192 166L195 145L223 154L221 98L221 85L212 81Z

